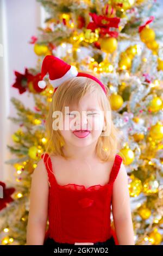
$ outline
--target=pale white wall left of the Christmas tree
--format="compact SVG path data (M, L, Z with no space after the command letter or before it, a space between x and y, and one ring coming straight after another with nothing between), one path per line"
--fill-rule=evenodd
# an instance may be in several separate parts
M24 68L34 68L37 57L33 45L29 44L32 35L37 35L41 25L40 4L36 0L0 0L0 44L3 56L0 56L0 180L12 181L14 168L4 161L15 156L10 154L8 145L14 145L11 139L18 126L7 117L16 117L11 105L12 96L20 99L27 107L33 107L33 99L28 93L20 95L11 85L15 81L14 70L24 73ZM1 52L0 52L1 54Z

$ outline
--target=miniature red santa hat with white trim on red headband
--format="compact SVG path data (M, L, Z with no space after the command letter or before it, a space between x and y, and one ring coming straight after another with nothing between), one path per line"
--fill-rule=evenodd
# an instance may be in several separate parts
M104 93L106 94L106 89L104 84L98 80L95 76L91 76L89 74L85 74L82 72L78 72L75 66L71 66L64 62L63 60L52 56L47 55L42 62L42 68L41 68L41 79L42 81L39 81L38 86L43 89L46 87L46 82L43 81L43 77L48 73L49 75L49 82L52 84L52 86L55 88L55 90L65 82L66 80L73 78L73 77L88 77L92 80L96 81L104 90Z

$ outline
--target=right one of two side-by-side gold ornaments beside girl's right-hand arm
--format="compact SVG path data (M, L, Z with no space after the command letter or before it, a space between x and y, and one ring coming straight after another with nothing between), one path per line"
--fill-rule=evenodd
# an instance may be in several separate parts
M158 192L159 183L155 179L154 175L152 175L149 179L147 179L143 183L143 193L145 194L153 194Z

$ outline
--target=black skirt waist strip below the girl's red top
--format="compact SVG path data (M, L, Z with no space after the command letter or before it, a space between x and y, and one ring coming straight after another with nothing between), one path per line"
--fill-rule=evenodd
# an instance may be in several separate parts
M48 245L48 246L55 246L55 247L61 247L61 246L74 246L74 244L72 243L58 243L55 242L54 239L47 237L47 239L45 240L45 242L43 243L43 245ZM108 240L104 241L104 242L96 242L93 245L89 245L89 246L108 246L108 245L115 245L115 240L114 237L111 236ZM80 245L79 245L80 246Z

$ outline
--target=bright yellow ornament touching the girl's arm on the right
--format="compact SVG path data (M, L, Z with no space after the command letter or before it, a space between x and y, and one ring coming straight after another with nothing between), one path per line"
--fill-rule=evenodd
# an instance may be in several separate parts
M130 175L131 182L128 184L129 194L131 197L137 197L142 192L141 180L137 179L133 174Z

